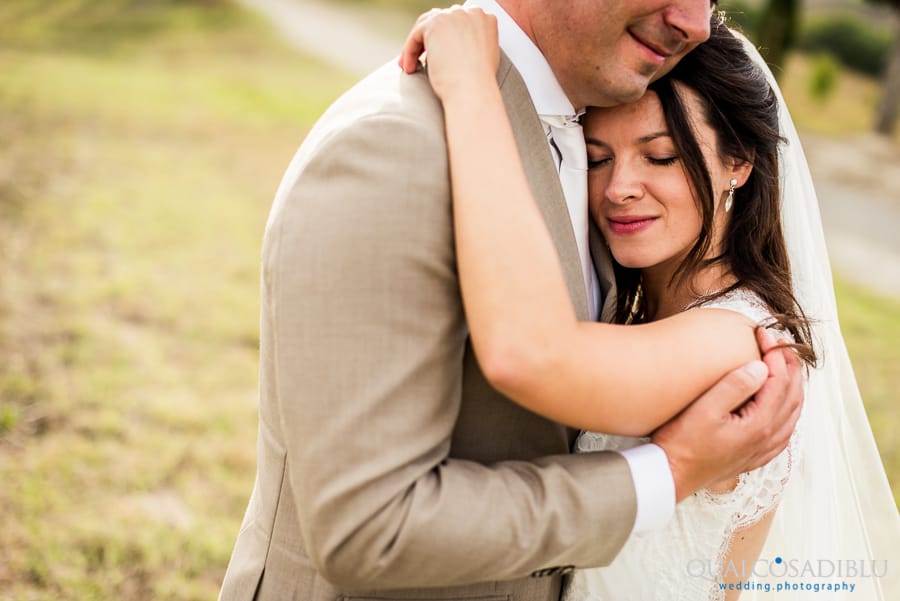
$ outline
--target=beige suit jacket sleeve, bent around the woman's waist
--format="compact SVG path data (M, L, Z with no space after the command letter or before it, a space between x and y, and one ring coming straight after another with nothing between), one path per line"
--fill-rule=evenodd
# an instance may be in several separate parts
M450 586L608 563L635 517L615 453L448 457L465 317L439 126L324 135L267 228L277 411L304 543L347 588Z

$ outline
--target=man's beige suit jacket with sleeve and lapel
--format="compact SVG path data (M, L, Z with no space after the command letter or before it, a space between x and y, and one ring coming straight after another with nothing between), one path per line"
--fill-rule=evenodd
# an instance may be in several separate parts
M587 319L543 128L505 57L498 81ZM386 66L288 169L263 245L258 473L223 601L556 601L571 566L608 563L631 531L624 458L570 454L575 431L478 368L443 126L426 75Z

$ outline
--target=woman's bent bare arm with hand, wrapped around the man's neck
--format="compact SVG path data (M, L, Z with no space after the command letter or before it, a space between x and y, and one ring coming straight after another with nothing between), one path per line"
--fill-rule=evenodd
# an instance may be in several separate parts
M729 311L640 326L577 321L496 84L495 22L442 18L423 38L444 103L462 296L490 382L555 421L640 435L757 359L752 324Z

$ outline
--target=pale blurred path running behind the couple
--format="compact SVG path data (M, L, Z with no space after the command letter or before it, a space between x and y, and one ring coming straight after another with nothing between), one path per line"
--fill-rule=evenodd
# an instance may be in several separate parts
M364 74L395 56L409 18L322 0L239 0L299 50ZM900 298L900 148L875 137L804 136L834 270Z

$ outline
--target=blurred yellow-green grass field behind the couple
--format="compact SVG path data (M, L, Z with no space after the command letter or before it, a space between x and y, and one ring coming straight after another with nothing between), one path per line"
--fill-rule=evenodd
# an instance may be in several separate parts
M354 78L225 0L5 0L0 73L0 598L213 599L266 215ZM900 303L838 292L896 495Z

